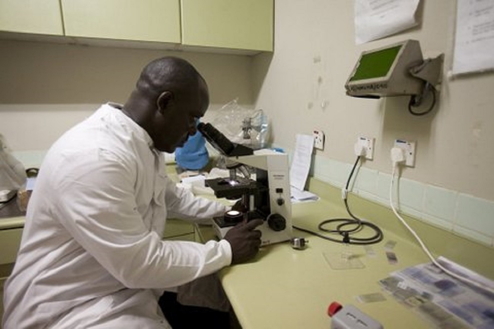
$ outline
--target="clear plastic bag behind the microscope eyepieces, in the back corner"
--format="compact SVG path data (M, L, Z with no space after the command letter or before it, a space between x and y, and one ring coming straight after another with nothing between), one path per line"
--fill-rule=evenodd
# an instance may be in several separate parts
M225 104L211 120L211 124L228 139L254 150L268 147L270 126L262 110L248 110L237 99Z

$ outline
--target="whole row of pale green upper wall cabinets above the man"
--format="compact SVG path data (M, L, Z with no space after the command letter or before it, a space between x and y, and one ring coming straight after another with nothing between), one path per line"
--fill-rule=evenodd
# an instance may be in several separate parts
M0 0L0 38L255 54L273 16L274 0Z

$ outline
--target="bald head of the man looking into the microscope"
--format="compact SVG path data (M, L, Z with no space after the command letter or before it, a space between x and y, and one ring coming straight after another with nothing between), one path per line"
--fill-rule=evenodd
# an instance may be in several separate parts
M197 70L184 59L163 57L142 70L124 112L148 132L158 150L173 152L196 132L195 119L208 105L207 85Z

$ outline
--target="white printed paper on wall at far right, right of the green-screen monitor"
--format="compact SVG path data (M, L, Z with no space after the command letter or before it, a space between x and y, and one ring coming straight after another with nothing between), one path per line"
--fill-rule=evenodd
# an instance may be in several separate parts
M453 74L494 68L494 0L458 0Z

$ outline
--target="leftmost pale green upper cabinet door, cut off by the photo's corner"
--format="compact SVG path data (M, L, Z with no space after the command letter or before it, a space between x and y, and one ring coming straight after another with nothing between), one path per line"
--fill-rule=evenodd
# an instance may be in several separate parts
M0 31L62 36L59 0L0 0Z

